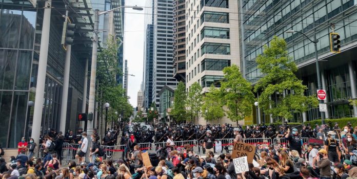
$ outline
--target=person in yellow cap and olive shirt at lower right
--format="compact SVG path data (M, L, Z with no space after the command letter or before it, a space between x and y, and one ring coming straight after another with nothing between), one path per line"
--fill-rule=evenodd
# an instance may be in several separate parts
M319 150L319 155L316 156L318 160L318 168L320 169L320 179L331 178L331 162L328 159L327 151L325 149Z

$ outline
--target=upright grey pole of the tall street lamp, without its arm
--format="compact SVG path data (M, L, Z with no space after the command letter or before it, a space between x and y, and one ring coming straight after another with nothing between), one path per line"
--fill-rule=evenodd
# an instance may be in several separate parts
M88 114L94 115L94 100L95 100L95 77L96 77L96 61L97 61L97 48L98 48L98 24L99 24L99 10L94 12L94 40L92 49L92 64L90 70L90 85L89 85L89 101L88 101ZM87 135L92 134L93 120L87 122ZM89 130L88 130L89 129Z

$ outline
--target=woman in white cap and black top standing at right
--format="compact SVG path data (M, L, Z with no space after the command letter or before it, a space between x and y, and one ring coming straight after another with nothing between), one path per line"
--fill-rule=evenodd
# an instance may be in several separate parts
M341 152L339 142L336 140L336 132L328 131L328 138L324 143L324 149L327 151L328 159L333 162L341 162Z

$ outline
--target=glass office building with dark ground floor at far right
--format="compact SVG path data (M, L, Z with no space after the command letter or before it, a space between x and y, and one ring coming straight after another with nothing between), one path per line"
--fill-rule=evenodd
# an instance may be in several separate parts
M305 33L317 43L322 75L326 89L328 112L326 118L352 117L357 108L348 103L355 97L355 69L357 58L357 6L355 0L268 0L241 1L242 71L247 80L255 83L264 74L257 69L255 59L262 54L273 36L284 38L288 52L299 67L296 75L308 86L306 95L315 95L317 77L314 44L300 33ZM329 33L341 36L341 53L330 52ZM354 95L354 96L353 96ZM279 96L279 95L278 95ZM279 97L278 97L279 98ZM268 117L264 116L264 117ZM295 115L294 121L303 116ZM306 120L321 118L318 109L310 109ZM265 120L267 121L267 120Z

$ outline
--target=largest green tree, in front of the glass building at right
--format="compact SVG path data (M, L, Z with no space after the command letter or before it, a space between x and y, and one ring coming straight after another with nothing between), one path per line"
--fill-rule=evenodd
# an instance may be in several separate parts
M269 47L264 47L263 54L256 58L256 62L265 76L257 82L254 91L261 94L259 105L265 113L280 119L292 119L292 113L302 113L307 111L309 106L318 105L315 97L304 96L307 87L294 74L297 67L288 55L284 39L275 36ZM277 92L281 99L275 102L270 97ZM281 94L285 94L285 97ZM269 104L272 105L271 109Z

